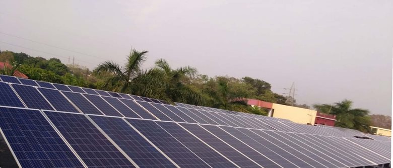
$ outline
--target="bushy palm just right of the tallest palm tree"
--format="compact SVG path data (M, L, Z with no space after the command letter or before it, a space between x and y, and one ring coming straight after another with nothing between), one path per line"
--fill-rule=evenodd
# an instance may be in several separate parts
M164 92L171 99L169 102L194 105L204 104L205 100L202 94L196 88L189 85L189 79L198 73L196 68L184 66L172 69L165 59L158 59L153 69L164 74Z

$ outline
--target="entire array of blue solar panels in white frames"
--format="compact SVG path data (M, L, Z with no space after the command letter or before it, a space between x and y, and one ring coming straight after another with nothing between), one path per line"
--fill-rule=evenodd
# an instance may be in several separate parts
M0 132L20 167L356 167L390 138L0 75ZM368 137L359 139L355 136Z

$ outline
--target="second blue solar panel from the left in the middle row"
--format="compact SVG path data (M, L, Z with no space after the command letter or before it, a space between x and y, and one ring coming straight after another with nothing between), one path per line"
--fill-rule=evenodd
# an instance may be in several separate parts
M12 85L12 87L28 108L54 110L36 88L17 84Z

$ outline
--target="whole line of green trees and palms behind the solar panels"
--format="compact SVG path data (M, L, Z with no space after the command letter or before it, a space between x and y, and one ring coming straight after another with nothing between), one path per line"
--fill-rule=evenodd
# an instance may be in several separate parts
M34 80L259 115L267 115L267 109L253 108L247 105L244 98L286 105L287 98L272 92L270 83L261 79L248 76L209 77L199 74L194 67L173 68L164 59L156 60L153 68L143 69L147 53L132 50L123 64L105 61L90 70L80 65L65 65L57 58L46 60L25 53L0 51L0 61L8 62L13 67L0 69L0 73L12 75L15 70L19 70ZM336 115L336 126L369 132L372 124L369 111L352 109L351 105L351 101L344 100L334 105L313 105L313 108ZM294 106L310 108L296 102Z

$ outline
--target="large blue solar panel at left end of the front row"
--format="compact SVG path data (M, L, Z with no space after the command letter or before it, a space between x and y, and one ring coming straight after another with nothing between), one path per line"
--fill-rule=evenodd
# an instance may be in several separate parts
M22 167L83 167L38 110L0 107L0 127Z

